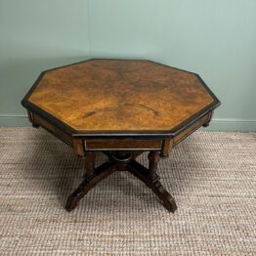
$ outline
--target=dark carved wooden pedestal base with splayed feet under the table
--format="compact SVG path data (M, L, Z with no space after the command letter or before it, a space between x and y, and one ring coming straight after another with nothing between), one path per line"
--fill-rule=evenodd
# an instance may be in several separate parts
M83 196L94 188L99 182L107 178L115 171L128 171L144 182L160 199L163 206L170 212L177 209L174 198L159 182L156 174L157 162L160 159L159 152L149 152L149 169L137 162L135 158L142 151L103 151L108 156L107 162L95 168L95 153L88 151L85 156L86 173L83 182L72 192L66 201L65 209L73 210Z

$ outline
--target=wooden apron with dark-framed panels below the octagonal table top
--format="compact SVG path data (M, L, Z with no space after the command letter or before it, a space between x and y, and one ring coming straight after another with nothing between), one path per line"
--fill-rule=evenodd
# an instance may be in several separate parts
M168 155L174 146L187 138L192 132L202 125L210 122L213 110L207 112L196 121L193 121L186 128L178 132L170 139L81 139L74 138L56 127L48 120L38 114L28 111L29 120L34 124L40 125L51 132L57 138L61 139L72 147L80 156L86 154L86 151L104 151L104 150L158 150L162 155Z

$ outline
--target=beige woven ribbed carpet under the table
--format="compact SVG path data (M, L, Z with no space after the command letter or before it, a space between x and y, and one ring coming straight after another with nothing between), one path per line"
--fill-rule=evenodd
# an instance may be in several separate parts
M1 128L0 255L256 255L256 133L196 132L158 173L175 214L128 173L67 213L82 160L41 129Z

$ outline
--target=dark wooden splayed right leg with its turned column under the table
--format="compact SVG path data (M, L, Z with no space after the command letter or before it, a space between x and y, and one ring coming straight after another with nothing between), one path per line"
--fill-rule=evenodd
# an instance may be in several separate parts
M144 182L149 187L149 189L151 189L158 196L167 210L175 212L177 209L176 202L171 194L162 187L161 183L159 182L160 178L156 174L158 160L158 153L150 152L149 170L135 160L132 160L127 165L127 169L130 173Z

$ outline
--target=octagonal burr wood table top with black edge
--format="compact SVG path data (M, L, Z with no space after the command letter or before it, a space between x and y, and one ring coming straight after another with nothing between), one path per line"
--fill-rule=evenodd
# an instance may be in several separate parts
M44 71L22 101L77 134L172 134L219 103L197 74L137 60Z

